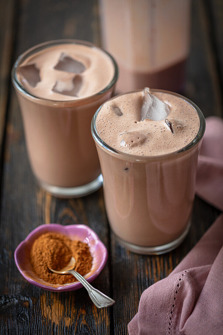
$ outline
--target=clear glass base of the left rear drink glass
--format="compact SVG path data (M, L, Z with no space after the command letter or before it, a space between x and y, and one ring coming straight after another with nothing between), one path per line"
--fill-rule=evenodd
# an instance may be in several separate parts
M39 183L41 187L46 190L47 192L51 193L55 197L59 198L78 198L83 197L85 195L88 195L90 193L95 192L98 190L102 183L103 183L103 177L100 174L95 180L92 182L77 186L77 187L60 187L60 186L53 186L50 184L47 184L43 181L39 180Z

